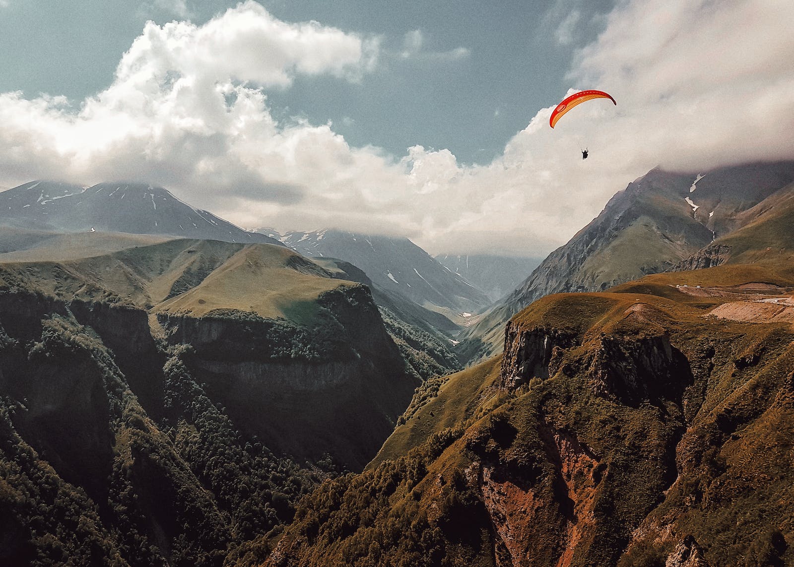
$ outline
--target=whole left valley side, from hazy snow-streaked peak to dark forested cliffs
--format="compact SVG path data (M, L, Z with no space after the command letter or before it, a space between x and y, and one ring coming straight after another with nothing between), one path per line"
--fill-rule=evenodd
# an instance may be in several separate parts
M37 183L0 194L5 565L250 563L460 368L448 319L352 264L145 183Z

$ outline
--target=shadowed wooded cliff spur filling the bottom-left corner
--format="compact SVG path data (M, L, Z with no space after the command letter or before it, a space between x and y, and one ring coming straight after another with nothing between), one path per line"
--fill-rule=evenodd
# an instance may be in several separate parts
M0 291L0 335L3 563L179 564L226 546L218 507L68 303Z

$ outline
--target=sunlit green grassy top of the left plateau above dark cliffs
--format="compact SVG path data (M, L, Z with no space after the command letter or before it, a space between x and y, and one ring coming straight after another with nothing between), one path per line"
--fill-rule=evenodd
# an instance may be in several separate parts
M6 279L62 298L116 302L200 317L214 309L304 317L306 303L344 284L289 249L172 240L64 261L0 261Z

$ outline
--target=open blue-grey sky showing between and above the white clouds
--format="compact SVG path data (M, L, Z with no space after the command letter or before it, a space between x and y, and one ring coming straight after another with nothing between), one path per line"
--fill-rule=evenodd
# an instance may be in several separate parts
M145 22L206 23L237 2L6 0L0 91L80 101L105 89ZM449 148L488 163L530 110L569 88L572 53L595 39L612 0L599 2L261 2L283 21L319 21L380 38L380 64L355 83L297 76L268 91L273 114L333 123L352 145L403 155ZM567 21L567 24L564 22ZM561 29L562 26L562 29ZM561 33L563 37L561 37Z

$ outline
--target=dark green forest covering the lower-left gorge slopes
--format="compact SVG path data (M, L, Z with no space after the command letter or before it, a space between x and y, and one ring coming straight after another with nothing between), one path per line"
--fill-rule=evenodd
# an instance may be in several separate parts
M162 384L153 419L91 327L39 314L21 340L0 328L4 564L249 565L298 500L342 472L237 430L191 376L191 346L148 353L162 362L148 376ZM61 405L30 415L42 403Z

